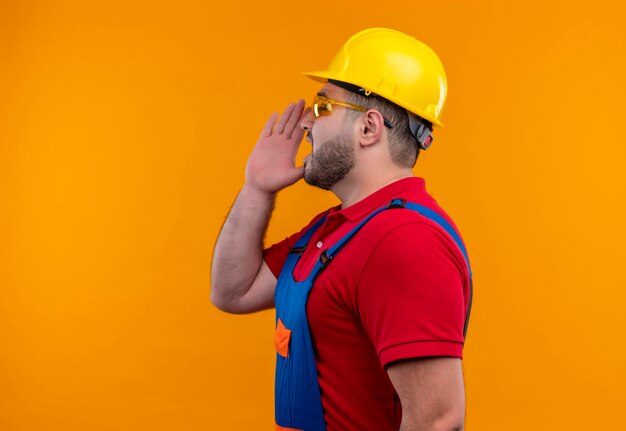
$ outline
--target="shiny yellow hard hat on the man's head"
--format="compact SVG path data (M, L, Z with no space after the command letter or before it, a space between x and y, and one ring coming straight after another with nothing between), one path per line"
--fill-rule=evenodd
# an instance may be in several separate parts
M441 60L423 42L387 28L352 36L326 70L305 75L319 81L356 85L364 96L375 93L437 126L446 101L447 79Z

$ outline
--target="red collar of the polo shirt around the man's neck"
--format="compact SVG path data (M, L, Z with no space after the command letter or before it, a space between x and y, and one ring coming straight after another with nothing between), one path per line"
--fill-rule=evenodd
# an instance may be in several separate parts
M426 182L420 177L407 177L387 184L371 195L361 199L347 208L341 209L341 205L330 209L329 217L343 217L350 221L357 221L367 216L378 208L387 205L393 198L401 197L402 194L426 193Z

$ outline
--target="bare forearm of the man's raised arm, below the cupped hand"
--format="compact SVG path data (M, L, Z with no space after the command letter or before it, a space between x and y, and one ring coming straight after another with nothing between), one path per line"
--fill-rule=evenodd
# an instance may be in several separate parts
M242 298L263 259L263 237L274 194L244 186L218 236L211 268L211 301L222 309Z

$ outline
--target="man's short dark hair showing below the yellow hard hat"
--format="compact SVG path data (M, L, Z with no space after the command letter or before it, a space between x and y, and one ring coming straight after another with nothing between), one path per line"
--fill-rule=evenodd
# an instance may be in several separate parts
M412 168L419 157L420 148L417 139L411 134L409 128L409 114L406 109L395 103L376 95L362 96L353 91L345 91L346 102L354 105L362 106L367 109L376 109L381 115L388 120L393 127L387 128L389 136L389 153L391 160L403 168ZM356 118L360 113L358 111L348 110L351 118ZM426 126L432 131L432 124L420 118Z

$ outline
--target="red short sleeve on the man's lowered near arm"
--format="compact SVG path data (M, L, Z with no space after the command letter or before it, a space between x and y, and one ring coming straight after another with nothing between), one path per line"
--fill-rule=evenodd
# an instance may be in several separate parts
M357 286L363 327L383 367L416 357L462 357L468 275L456 244L428 221L387 233Z

